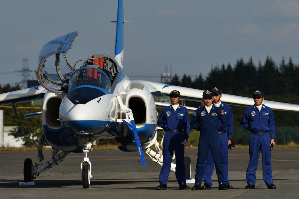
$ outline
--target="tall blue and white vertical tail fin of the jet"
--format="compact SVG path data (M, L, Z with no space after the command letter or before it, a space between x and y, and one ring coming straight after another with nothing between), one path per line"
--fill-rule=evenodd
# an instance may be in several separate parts
M118 0L117 19L113 22L116 22L115 60L123 69L123 26L125 22L130 22L123 19L123 0Z

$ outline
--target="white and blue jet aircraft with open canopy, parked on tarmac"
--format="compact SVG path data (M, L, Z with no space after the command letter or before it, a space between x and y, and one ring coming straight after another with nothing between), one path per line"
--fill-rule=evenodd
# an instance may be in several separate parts
M83 153L81 178L83 188L89 188L91 162L88 153L100 139L115 139L122 151L139 151L146 166L145 152L153 161L163 164L161 146L157 140L158 112L167 103L155 102L156 97L169 98L169 93L180 91L182 100L202 102L202 90L168 84L130 80L123 67L123 0L118 1L115 56L92 54L78 60L74 66L66 53L78 36L73 31L52 39L40 50L36 59L38 87L0 94L0 105L11 105L17 114L17 103L42 99L42 111L24 117L42 117L43 133L37 147L37 158L44 160L43 146L53 148L52 157L33 166L24 161L24 181L32 181L45 170L60 163L69 153ZM223 94L229 105L251 106L252 99ZM274 110L299 111L299 105L264 101ZM187 107L189 110L196 108ZM150 146L155 146L155 150ZM60 153L58 153L61 151ZM191 178L190 158L185 157L186 178ZM171 169L175 171L175 163Z

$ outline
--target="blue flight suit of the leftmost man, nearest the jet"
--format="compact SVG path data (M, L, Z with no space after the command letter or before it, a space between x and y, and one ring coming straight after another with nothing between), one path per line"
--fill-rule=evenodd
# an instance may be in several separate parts
M165 131L163 139L163 165L159 175L160 184L167 185L173 149L176 154L176 179L179 186L186 184L184 164L185 146L181 142L189 138L190 121L187 108L179 105L176 111L174 111L172 105L167 106L162 110L157 125Z

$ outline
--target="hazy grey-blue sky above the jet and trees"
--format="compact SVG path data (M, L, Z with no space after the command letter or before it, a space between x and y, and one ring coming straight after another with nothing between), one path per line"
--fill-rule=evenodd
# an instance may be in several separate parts
M47 42L80 33L67 53L74 65L94 54L114 57L117 0L3 0L0 7L0 84L36 80L35 60ZM124 0L124 71L161 82L168 72L206 77L212 67L267 56L299 63L299 0Z

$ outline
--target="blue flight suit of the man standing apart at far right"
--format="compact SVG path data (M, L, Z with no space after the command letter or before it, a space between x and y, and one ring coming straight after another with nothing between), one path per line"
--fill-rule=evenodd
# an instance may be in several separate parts
M255 105L246 109L240 125L251 131L249 137L250 160L246 170L247 184L255 185L257 164L262 152L263 179L267 186L274 184L272 180L270 141L274 138L274 115L272 109L262 105L259 111ZM260 134L259 134L259 133Z

